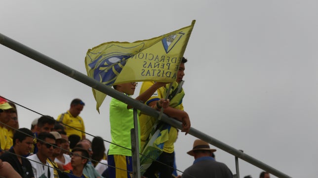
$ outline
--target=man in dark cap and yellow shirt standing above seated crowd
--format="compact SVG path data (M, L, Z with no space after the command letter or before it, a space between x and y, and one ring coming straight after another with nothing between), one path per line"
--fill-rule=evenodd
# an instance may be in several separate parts
M83 110L84 106L85 106L85 104L80 99L74 99L71 102L70 109L67 112L60 114L57 117L57 119L56 119L57 121L65 124L64 130L67 133L67 136L78 135L78 136L80 136L80 139L86 138L84 121L79 116L80 112ZM73 129L69 126L74 127L78 130Z

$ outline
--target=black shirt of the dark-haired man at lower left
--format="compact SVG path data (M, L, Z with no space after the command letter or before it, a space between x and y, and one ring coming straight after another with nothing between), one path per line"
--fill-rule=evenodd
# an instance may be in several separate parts
M2 161L8 162L13 168L14 170L19 173L19 175L22 178L34 178L34 174L32 171L32 165L30 163L30 161L28 159L26 159L25 157L21 156L21 162L18 160L18 157L14 154L14 149L10 148L8 152L3 153L0 156L0 159Z

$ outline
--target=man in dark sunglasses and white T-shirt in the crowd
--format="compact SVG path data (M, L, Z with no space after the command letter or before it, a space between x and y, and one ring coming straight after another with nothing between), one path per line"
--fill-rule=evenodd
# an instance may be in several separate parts
M54 169L48 163L48 159L53 154L55 144L55 137L47 132L42 132L38 135L37 154L28 156L30 160L33 174L35 178L54 178Z

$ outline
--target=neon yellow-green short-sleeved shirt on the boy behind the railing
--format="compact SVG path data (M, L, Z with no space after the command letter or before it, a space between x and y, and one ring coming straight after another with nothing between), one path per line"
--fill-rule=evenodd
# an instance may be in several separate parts
M133 109L127 109L127 104L113 98L110 103L109 120L111 124L112 142L131 149L130 129L134 128ZM138 120L138 133L140 138L139 128ZM111 144L108 154L131 156L131 150L125 148Z

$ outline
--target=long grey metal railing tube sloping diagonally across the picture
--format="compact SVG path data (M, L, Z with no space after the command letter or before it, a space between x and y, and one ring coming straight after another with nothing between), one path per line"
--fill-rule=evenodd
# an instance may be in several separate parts
M127 97L126 95L118 92L117 90L114 90L109 86L106 86L106 85L104 85L104 84L102 84L102 83L100 83L92 78L89 78L85 74L83 74L79 71L76 71L76 70L74 70L74 69L72 69L72 68L70 68L70 67L68 67L60 62L57 62L54 59L52 59L44 54L41 54L40 52L38 52L38 51L28 47L28 46L25 46L24 44L19 43L18 41L15 41L7 36L0 34L0 43L8 48L11 48L12 50L15 50L15 51L31 58L31 59L34 59L34 60L40 62L41 64L44 64L45 66L47 66L49 68L52 68L56 71L64 73L65 75L67 75L71 78L74 78L85 85L88 85L96 90L99 90L99 91L107 94L108 96L113 97L113 98L115 98L115 99L117 99L117 100L119 100L127 105L134 106L134 108L143 111L147 115L150 115L150 116L156 117L156 118L158 118L158 116L159 116L159 111L156 111L153 108L148 107L148 106L140 103L139 101L136 101L130 97ZM173 127L176 127L178 129L182 129L181 122L179 122L173 118L170 118L165 114L162 115L161 120L165 123L172 125ZM218 141L217 139L210 137L210 136L200 132L199 130L197 130L193 127L191 127L189 134L234 155L236 157L236 159L240 158L240 159L242 159L242 160L244 160L244 161L246 161L246 162L248 162L248 163L250 163L250 164L266 171L266 172L269 172L270 174L277 176L278 178L291 178L288 175L278 171L277 169L243 153L242 151L240 151L240 150L238 150L230 145L227 145L221 141ZM236 160L236 162L238 162L238 160ZM236 168L237 168L237 173L238 173L238 164L237 164Z

